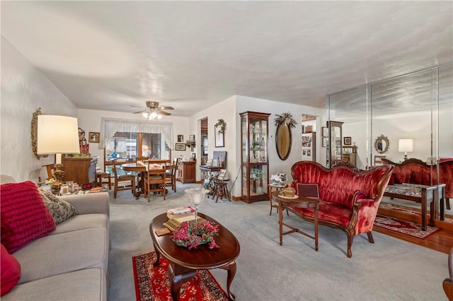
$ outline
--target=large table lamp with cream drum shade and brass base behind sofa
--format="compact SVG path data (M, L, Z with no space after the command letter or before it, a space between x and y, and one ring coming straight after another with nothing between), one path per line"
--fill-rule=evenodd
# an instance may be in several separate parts
M38 155L55 154L52 194L59 194L64 171L62 153L79 153L79 125L68 116L38 115Z

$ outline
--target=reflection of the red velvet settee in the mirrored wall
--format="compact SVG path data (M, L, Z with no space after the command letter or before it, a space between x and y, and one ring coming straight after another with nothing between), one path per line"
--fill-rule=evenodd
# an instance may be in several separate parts
M390 185L393 184L437 184L437 165L428 165L422 160L411 158L403 163L394 163L391 160L382 158L382 164L394 165L391 173ZM445 199L449 208L449 199L453 199L453 160L440 160L439 183L445 184Z

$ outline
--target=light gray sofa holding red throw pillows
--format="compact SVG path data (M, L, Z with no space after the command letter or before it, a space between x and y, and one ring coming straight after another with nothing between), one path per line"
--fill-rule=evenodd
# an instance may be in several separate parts
M6 182L15 181L2 175ZM60 198L77 214L12 254L21 264L21 279L1 300L107 300L109 194Z

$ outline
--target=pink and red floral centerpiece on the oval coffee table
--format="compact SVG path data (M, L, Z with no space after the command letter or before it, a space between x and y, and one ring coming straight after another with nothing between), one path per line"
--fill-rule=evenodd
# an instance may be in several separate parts
M180 247L197 248L200 244L209 244L210 249L218 248L214 236L219 232L219 225L212 222L198 224L183 222L170 236Z

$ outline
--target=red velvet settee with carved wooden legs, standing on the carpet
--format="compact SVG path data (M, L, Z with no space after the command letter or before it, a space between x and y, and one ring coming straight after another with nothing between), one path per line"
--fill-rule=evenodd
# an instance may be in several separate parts
M336 166L329 170L319 163L299 161L291 167L294 179L292 187L297 194L304 195L304 186L299 184L317 184L319 224L339 228L346 233L347 256L351 257L355 235L367 233L369 242L374 242L374 219L393 168L392 165L382 165L372 170L358 171L347 166ZM299 217L313 223L313 208L293 209L299 213Z

